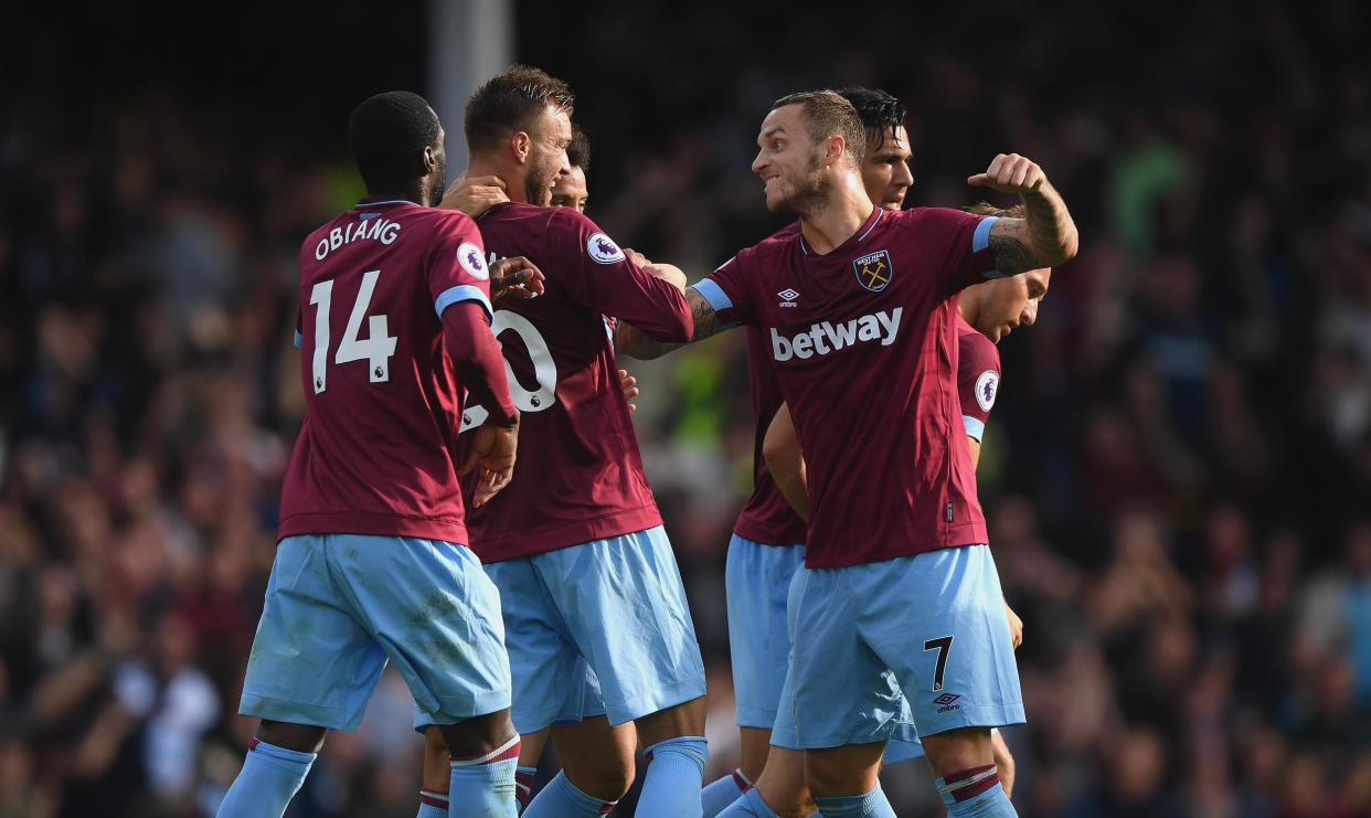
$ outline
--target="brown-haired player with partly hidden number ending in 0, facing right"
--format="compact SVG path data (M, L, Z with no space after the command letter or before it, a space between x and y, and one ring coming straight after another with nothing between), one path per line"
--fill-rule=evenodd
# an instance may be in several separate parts
M576 741L627 722L636 722L648 756L640 810L699 815L703 663L603 318L687 341L686 280L673 267L644 267L576 210L546 207L569 171L570 106L565 84L514 67L466 108L469 173L502 179L514 200L478 218L487 247L540 259L547 275L542 297L495 318L524 443L537 447L539 462L515 467L510 489L473 515L473 540L505 607L525 771L554 722L591 717L585 730L557 736L568 763L526 815L610 808L632 780L631 739L627 752L620 741L587 741L577 752ZM480 422L480 408L468 414ZM596 682L603 708L588 689Z

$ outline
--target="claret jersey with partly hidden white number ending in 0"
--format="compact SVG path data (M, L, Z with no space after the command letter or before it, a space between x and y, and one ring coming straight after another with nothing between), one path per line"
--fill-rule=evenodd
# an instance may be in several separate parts
M505 299L495 311L520 408L520 459L510 485L473 510L473 549L489 563L661 525L606 317L688 341L686 296L573 208L499 204L477 225L492 258L525 256L547 281L542 296ZM463 429L484 418L470 407Z

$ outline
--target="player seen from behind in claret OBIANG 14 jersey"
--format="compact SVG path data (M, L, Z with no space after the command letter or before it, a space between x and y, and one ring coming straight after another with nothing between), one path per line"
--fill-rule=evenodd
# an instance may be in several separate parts
M472 471L480 506L515 463L492 269L476 225L430 207L446 162L422 97L363 101L348 138L367 197L300 248L307 412L243 684L240 712L262 725L219 815L281 815L389 659L452 748L462 815L509 817L518 734L499 593L463 545L459 485ZM459 469L463 389L488 408Z

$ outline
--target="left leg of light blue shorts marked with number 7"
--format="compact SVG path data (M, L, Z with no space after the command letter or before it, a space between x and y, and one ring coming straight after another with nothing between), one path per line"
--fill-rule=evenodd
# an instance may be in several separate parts
M805 569L791 586L795 641L773 747L882 743L899 723L903 696L894 674L858 636L860 600L846 570Z

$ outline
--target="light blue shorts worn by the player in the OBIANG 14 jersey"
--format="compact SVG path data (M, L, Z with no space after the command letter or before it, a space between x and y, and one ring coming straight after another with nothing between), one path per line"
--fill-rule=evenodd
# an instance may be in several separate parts
M430 723L510 706L500 597L481 560L411 537L281 540L239 712L354 730L387 659Z

